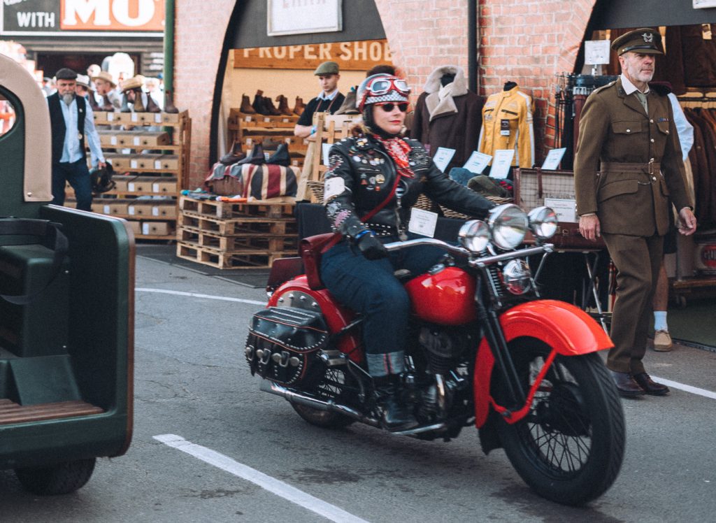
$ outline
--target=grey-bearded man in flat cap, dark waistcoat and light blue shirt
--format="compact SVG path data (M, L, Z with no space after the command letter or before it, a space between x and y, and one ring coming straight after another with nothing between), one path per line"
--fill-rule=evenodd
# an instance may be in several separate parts
M47 97L52 129L52 203L64 204L64 186L74 189L77 208L92 211L92 182L87 168L85 138L92 155L92 165L104 168L105 156L95 129L92 107L77 96L77 73L62 68L57 71L57 92Z

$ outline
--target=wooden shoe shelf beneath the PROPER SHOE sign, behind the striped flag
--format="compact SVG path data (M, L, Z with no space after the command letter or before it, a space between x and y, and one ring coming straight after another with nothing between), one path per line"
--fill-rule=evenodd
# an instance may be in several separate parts
M289 145L291 165L300 168L306 158L307 145L303 138L294 136L298 121L297 115L247 114L231 109L228 117L229 143L241 143L241 148L248 153L254 144L264 140L285 142Z

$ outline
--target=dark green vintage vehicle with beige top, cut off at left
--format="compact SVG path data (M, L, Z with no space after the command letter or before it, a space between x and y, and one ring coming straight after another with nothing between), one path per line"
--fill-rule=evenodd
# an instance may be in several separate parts
M47 102L3 55L0 106L0 469L66 494L132 438L134 236L49 204Z

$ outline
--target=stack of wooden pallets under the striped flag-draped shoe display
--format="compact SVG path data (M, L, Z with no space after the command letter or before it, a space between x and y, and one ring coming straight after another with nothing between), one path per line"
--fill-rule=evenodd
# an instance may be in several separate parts
M248 203L179 199L177 256L218 269L268 269L296 256L293 198Z

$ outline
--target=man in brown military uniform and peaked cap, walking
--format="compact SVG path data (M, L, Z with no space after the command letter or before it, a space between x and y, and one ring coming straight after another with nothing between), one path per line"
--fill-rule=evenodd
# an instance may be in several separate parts
M618 271L614 348L606 365L623 396L669 393L642 363L669 227L669 195L679 211L679 232L696 230L667 92L649 90L661 41L654 29L637 29L611 44L621 75L586 100L574 162L579 231L587 239L604 237Z

